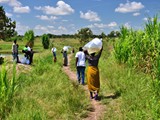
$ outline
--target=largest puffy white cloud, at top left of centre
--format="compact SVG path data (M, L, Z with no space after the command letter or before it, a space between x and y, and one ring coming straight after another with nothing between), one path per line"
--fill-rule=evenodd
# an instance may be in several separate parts
M57 2L57 7L44 6L44 7L34 7L36 10L42 10L48 15L69 15L74 13L74 9L70 5L66 4L63 1Z

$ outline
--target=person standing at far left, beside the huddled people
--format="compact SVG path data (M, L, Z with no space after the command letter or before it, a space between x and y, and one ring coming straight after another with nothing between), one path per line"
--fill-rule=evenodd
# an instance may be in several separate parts
M13 55L13 61L16 60L16 63L17 63L18 62L18 45L16 40L14 40L12 44L12 55Z

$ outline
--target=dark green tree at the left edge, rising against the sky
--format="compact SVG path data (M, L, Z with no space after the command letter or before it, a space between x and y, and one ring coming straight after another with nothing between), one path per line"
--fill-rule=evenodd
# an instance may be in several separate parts
M0 39L6 40L15 35L16 22L8 18L3 6L0 6Z

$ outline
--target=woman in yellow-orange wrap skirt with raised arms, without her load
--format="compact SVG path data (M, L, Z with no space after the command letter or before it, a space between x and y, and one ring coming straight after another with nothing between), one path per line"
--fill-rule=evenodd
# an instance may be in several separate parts
M97 55L96 53L88 54L88 51L85 51L86 59L88 61L88 69L87 69L87 84L90 92L91 99L98 100L98 93L100 89L100 77L99 77L99 58L101 57L103 47L99 51ZM93 96L94 94L94 96Z

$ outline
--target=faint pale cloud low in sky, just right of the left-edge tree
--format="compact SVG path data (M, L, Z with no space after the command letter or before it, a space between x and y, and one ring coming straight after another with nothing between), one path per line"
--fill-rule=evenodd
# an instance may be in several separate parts
M26 31L28 31L30 28L29 26L25 26L25 25L22 25L20 22L17 22L16 23L16 31L18 32L19 35L24 35L24 33Z

